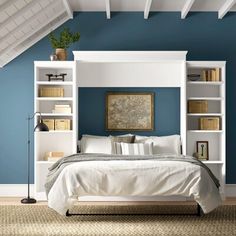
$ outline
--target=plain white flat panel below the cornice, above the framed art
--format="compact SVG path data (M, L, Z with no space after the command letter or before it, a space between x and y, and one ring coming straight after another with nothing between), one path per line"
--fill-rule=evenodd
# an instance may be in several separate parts
M180 87L181 62L78 63L79 87Z

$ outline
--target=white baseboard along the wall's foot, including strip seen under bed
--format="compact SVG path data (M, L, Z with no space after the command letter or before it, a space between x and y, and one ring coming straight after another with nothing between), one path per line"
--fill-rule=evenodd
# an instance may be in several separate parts
M0 184L0 197L26 197L28 193L27 184ZM30 196L34 197L34 185L30 185ZM225 185L225 196L236 197L236 184ZM182 197L137 197L137 201L181 201ZM129 197L81 197L80 201L132 201Z

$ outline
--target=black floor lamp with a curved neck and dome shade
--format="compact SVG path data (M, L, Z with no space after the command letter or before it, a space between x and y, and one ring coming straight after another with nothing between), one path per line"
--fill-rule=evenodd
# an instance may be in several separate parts
M35 126L34 131L39 132L39 131L49 131L47 125L45 125L42 121L41 113L40 112L35 112L33 116L28 116L27 121L28 121L28 142L27 142L27 147L28 147L28 162L27 162L27 169L28 169L28 196L26 198L23 198L21 200L21 203L24 204L30 204L30 203L36 203L36 200L34 198L30 197L30 120L32 120L36 114L39 114L39 122Z

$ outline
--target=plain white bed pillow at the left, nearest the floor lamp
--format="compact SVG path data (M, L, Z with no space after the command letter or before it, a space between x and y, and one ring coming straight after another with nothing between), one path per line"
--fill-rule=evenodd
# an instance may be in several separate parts
M111 154L111 140L107 136L82 135L81 153Z

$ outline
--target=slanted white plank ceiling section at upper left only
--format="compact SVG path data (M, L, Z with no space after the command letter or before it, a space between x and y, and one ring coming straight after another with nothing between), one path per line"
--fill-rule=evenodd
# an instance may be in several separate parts
M63 0L0 0L0 67L72 17Z

